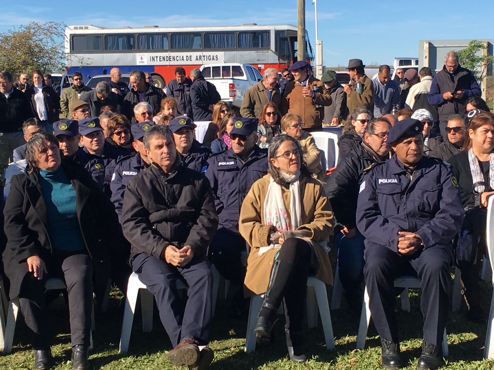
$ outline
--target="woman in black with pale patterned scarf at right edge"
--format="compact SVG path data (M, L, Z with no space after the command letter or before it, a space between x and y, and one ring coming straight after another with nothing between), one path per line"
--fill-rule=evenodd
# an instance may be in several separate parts
M454 182L460 190L465 211L463 226L456 241L456 264L468 304L466 318L485 319L481 307L479 272L486 253L486 218L488 198L494 194L494 114L480 112L467 128L462 150L453 155ZM454 183L453 183L454 184Z

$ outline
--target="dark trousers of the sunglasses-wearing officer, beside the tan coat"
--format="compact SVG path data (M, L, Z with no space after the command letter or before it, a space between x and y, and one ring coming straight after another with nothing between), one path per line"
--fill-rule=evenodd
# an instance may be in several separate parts
M225 279L243 285L246 277L246 266L242 264L244 251L246 241L242 236L219 230L209 246L209 260Z

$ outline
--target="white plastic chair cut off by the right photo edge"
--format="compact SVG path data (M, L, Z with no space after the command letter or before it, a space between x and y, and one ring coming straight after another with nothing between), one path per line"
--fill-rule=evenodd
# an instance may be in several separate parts
M489 260L491 261L491 271L493 273L492 285L494 288L494 197L489 198L487 207L486 241ZM494 293L491 299L491 310L487 323L486 346L484 349L485 359L494 359Z

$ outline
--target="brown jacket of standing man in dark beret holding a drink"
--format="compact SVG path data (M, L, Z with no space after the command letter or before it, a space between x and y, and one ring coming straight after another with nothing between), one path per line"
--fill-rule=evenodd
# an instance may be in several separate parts
M303 86L295 81L288 83L285 88L285 98L281 103L281 113L285 115L288 111L298 114L302 118L305 128L322 128L324 118L324 107L331 105L329 91L320 80L309 76L307 87L311 90L317 88L319 91L314 94L314 98L302 95Z

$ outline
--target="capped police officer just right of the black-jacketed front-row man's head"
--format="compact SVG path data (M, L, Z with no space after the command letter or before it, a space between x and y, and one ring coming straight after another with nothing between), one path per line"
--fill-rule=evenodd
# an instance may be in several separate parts
M189 117L180 115L173 118L168 123L168 127L173 133L175 148L180 154L182 162L184 162L188 168L195 171L206 171L206 161L211 152L209 151L209 148L201 145L194 139L194 129L196 128L196 125L192 120Z

